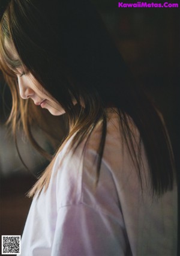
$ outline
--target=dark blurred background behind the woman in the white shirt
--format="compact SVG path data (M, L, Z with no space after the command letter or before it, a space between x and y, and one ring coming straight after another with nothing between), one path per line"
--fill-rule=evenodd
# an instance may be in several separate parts
M179 8L118 8L118 1L94 0L110 35L134 74L163 113L172 139L179 180ZM106 53L104 53L106 54ZM22 234L31 200L26 192L47 161L19 134L19 150L28 172L20 162L13 138L4 126L11 96L2 75L0 80L0 174L1 234ZM64 136L63 118L59 133ZM50 147L39 130L34 131L44 148Z

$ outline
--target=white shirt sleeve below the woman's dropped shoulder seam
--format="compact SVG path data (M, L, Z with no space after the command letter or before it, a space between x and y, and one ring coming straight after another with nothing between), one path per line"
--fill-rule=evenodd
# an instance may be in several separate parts
M125 231L112 217L85 204L58 211L53 256L113 256L127 254Z

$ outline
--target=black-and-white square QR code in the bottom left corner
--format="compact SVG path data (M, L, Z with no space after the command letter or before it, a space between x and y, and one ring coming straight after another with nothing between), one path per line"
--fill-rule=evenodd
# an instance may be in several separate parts
M2 236L2 255L20 254L20 236Z

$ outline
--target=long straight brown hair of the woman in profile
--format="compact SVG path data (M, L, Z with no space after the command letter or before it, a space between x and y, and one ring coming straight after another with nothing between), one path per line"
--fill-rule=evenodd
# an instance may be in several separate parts
M71 147L76 145L75 151L83 139L88 141L97 123L101 122L98 181L106 139L107 106L116 108L124 142L135 159L139 177L141 152L134 148L128 117L139 130L145 146L152 190L160 195L172 189L173 153L163 121L142 88L136 85L89 0L53 0L50 3L47 0L11 0L2 16L0 36L1 69L13 96L9 121L13 124L14 134L18 121L39 148L30 129L32 120L37 121L40 113L35 114L37 109L32 112L35 106L29 100L20 99L16 78L11 71L18 64L9 56L5 39L13 43L20 63L64 108L68 120L68 135L30 196L36 192L40 194L44 186L47 189L53 163L68 139L75 135L71 144ZM77 101L75 107L73 99ZM141 140L137 142L139 145Z

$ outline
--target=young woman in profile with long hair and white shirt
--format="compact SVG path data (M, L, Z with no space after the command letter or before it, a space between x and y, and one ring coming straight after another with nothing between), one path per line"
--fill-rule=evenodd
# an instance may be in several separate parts
M21 255L176 255L166 128L91 2L7 1L0 36L14 134L21 123L38 148L31 127L41 108L68 121L29 192Z

